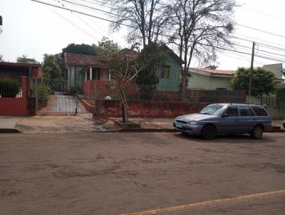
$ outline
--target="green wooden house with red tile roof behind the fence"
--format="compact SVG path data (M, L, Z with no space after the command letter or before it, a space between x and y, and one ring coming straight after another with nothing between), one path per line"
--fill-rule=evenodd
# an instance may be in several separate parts
M159 78L157 90L178 92L180 90L180 59L167 46L162 45L161 48L167 53L167 58L162 66L157 68ZM128 55L130 52L133 53L128 48L121 50L123 55ZM108 58L65 53L64 60L66 65L66 88L70 91L83 91L84 83L89 80L106 81L112 78L108 70Z

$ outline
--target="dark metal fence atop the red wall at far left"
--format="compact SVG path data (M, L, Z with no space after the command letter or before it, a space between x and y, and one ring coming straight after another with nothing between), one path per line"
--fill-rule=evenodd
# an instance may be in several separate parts
M0 97L21 98L23 90L21 76L13 73L0 73Z

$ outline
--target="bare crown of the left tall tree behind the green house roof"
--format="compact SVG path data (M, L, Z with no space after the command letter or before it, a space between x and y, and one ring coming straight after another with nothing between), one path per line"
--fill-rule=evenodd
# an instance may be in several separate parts
M128 25L127 40L129 43L140 43L147 48L150 42L157 43L162 33L169 29L164 28L170 14L167 6L160 0L105 0L112 4L115 23L114 30L124 23Z

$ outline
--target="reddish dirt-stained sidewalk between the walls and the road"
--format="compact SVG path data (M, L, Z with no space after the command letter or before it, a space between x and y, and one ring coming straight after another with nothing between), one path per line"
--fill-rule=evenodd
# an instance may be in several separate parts
M0 116L0 132L64 133L64 132L175 132L174 118L130 117L140 129L122 129L115 125L121 117L79 115L36 115L31 117ZM285 132L283 120L272 121L272 132Z

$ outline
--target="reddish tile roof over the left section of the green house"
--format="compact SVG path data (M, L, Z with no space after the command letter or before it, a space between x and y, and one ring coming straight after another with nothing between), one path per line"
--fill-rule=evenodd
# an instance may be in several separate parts
M87 56L76 53L65 53L64 61L68 65L97 65L106 67L107 62L104 58L98 56Z

